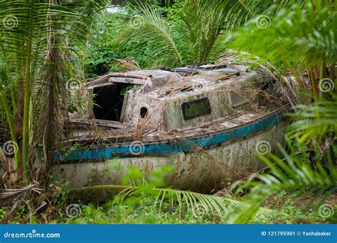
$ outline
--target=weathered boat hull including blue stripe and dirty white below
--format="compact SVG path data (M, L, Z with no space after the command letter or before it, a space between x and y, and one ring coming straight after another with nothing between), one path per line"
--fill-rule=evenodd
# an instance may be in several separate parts
M203 137L141 143L138 151L134 151L134 145L75 150L67 162L53 166L53 179L69 181L70 189L119 185L129 166L136 166L145 174L171 166L173 171L165 179L167 185L210 192L263 169L265 164L257 158L257 152L279 153L277 143L284 142L282 118L282 113L274 113L254 123ZM90 195L97 197L102 193L105 192Z

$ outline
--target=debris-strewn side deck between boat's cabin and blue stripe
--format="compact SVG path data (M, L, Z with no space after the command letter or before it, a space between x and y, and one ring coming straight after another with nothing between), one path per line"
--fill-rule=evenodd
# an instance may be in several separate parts
M125 123L117 123L107 120L72 120L68 126L74 128L73 134L68 137L65 147L74 144L96 147L105 145L122 145L126 142L163 142L165 140L186 140L193 137L200 137L207 134L230 130L240 125L254 122L263 118L269 113L276 113L282 110L279 104L273 104L274 108L259 106L245 111L237 111L237 114L230 118L215 120L210 125L189 130L170 130L166 132L160 128L157 130L141 129L141 124L135 128ZM279 106L279 109L275 109Z

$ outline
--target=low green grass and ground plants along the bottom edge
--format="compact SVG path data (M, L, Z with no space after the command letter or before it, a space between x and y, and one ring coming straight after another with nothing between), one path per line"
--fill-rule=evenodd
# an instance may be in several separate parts
M237 198L240 199L240 198ZM266 216L254 217L254 224L325 224L337 223L337 195L333 195L326 204L332 206L333 215L326 217L320 213L320 206L309 203L310 196L294 198L287 193L279 193L269 199L264 205L270 211ZM195 206L195 207L198 207ZM72 209L73 208L73 209ZM0 218L12 208L0 208ZM18 205L6 223L66 223L66 224L223 224L227 219L215 213L205 213L203 207L195 208L191 213L183 205L179 213L178 205L166 201L161 205L154 203L154 198L143 197L138 200L130 198L124 203L114 203L113 200L102 204L70 204L60 203L53 208L46 208L42 213L30 217L27 205Z

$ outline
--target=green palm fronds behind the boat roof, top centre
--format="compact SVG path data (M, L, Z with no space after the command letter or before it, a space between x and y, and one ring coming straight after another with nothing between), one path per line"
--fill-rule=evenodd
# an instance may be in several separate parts
M303 1L298 1L301 4ZM243 23L264 11L274 13L277 7L290 6L289 1L210 1L182 0L173 5L175 18L169 20L153 6L133 6L134 17L116 38L119 46L129 40L144 42L151 50L151 64L178 67L186 62L218 60L226 45L221 40ZM141 48L143 48L141 47Z

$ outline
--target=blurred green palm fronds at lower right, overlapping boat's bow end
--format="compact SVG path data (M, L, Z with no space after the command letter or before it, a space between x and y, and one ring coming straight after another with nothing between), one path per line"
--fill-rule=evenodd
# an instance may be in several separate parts
M235 183L232 186L237 193L247 188L250 188L250 193L243 201L249 205L247 211L245 213L233 212L230 222L250 221L267 199L282 191L293 194L297 198L314 193L314 200L320 197L326 198L331 193L336 193L337 169L336 154L334 154L336 145L327 142L328 151L326 154L323 154L318 147L314 147L315 159L311 164L310 159L312 158L309 157L310 154L305 149L297 150L299 147L294 147L293 141L288 137L286 140L290 154L279 146L284 159L280 159L274 154L267 154L265 157L257 154L269 166L269 173L253 174L240 186L238 186L240 183Z

